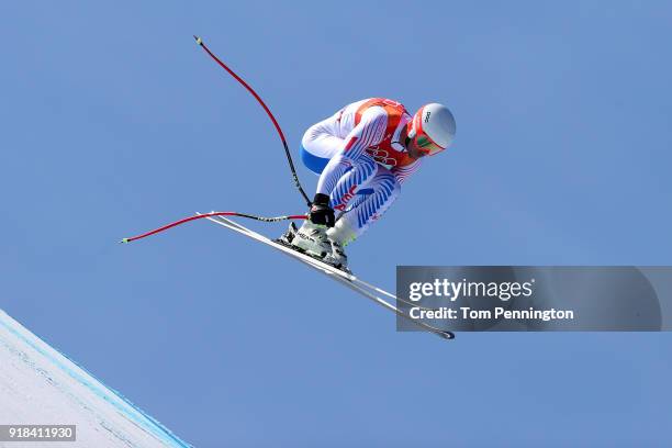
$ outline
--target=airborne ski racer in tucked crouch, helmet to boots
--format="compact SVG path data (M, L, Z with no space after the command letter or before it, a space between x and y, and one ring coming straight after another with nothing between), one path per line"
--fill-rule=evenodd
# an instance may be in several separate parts
M344 246L382 216L421 158L446 149L455 132L445 105L426 104L411 116L384 98L354 102L314 124L301 158L320 175L317 191L309 219L285 243L347 269Z

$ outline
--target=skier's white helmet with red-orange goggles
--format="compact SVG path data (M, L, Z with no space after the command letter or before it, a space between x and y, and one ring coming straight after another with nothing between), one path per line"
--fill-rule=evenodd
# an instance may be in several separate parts
M408 123L408 138L414 139L421 152L434 156L446 149L455 138L455 117L439 103L425 104Z

